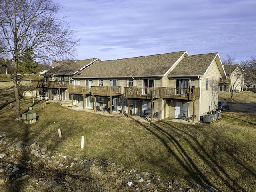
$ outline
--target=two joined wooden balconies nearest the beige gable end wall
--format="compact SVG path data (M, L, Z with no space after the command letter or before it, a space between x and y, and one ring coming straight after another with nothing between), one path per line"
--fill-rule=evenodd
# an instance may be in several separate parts
M182 99L195 100L200 96L200 88L170 88L170 87L126 87L125 95L127 98L135 99Z

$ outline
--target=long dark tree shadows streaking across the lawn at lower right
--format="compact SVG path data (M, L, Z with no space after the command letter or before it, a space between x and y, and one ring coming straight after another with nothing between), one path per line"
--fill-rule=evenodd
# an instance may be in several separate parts
M220 188L210 179L209 176L205 175L202 171L204 168L198 167L198 163L196 162L196 158L200 158L203 162L205 162L208 166L208 169L210 169L210 172L215 174L218 178L222 180L222 185L226 185L229 190L231 191L242 191L247 192L248 190L244 189L240 184L238 184L237 179L238 178L232 178L230 174L225 170L226 168L221 164L221 160L218 160L218 154L209 154L209 152L204 148L204 146L198 141L198 139L195 137L196 132L193 134L190 134L189 132L186 132L186 130L182 130L178 128L178 126L173 126L171 124L168 124L168 122L165 121L159 121L154 124L150 124L150 126L145 126L144 124L141 124L138 122L141 126L143 126L146 130L151 132L162 144L165 146L165 148L168 150L170 156L173 156L177 162L186 170L188 175L191 177L194 182L198 182L199 184L206 185L206 186L212 186L216 189ZM161 127L168 127L170 128L168 131L164 130L164 128ZM191 129L190 129L191 130ZM192 149L192 152L196 154L198 157L193 158L190 156L186 149L184 149L183 144L181 144L174 135L180 135L182 136L182 139L186 141L187 144L189 144L190 148ZM215 138L212 138L212 136L205 136L206 138L209 138L212 140L213 146L218 146L219 140L222 139L219 136L215 136ZM215 140L214 140L215 139ZM223 141L222 141L223 142ZM171 148L171 145L174 148ZM226 144L227 148L229 143ZM214 147L213 147L214 148ZM228 149L227 149L228 150ZM227 154L226 158L232 158L237 164L240 165L240 168L252 178L255 178L256 174L254 171L250 169L248 165L245 165L246 163L243 162L241 159L238 160L237 156L229 153ZM154 162L151 163L153 164ZM154 165L155 166L155 165ZM174 167L171 167L171 165L164 165L162 166L162 170L166 172L167 174L170 172L170 170L174 169ZM235 169L233 167L233 169ZM242 179L242 178L240 178ZM220 184L221 186L221 184ZM220 190L220 189L218 189Z

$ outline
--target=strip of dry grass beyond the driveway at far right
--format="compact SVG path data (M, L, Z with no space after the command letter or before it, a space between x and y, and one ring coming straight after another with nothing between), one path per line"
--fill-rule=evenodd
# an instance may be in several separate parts
M219 92L219 101L230 101L230 92ZM256 93L254 92L237 92L234 94L233 101L232 102L239 102L239 103L253 103L256 102Z

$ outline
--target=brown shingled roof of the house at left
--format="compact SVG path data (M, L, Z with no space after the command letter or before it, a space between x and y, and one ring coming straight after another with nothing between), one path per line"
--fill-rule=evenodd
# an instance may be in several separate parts
M90 64L98 61L99 58L96 59L84 59L84 60L78 60L78 61L72 61L72 60L62 60L59 65L52 68L51 70L48 70L42 76L61 76L61 75L74 75L78 73L78 70L83 70L87 66L90 66Z

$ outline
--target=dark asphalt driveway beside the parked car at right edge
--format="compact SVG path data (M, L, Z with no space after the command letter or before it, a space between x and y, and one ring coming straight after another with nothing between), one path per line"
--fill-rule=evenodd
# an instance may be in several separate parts
M256 103L229 103L230 110L226 112L256 113Z

